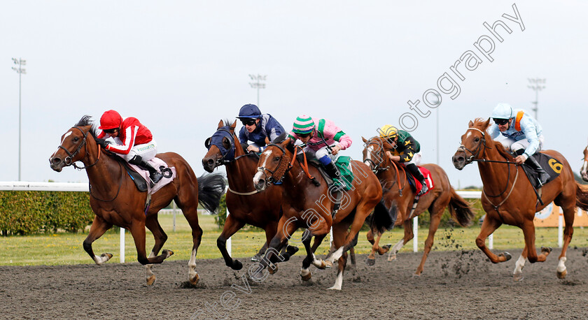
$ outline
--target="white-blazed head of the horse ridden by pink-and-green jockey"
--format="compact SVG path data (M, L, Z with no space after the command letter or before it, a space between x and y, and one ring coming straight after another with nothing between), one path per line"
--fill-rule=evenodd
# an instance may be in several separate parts
M260 154L257 173L253 177L253 185L258 191L265 190L270 184L281 181L290 166L290 159L294 157L293 151L288 149L290 138L282 134L267 145ZM281 142L279 142L281 141Z

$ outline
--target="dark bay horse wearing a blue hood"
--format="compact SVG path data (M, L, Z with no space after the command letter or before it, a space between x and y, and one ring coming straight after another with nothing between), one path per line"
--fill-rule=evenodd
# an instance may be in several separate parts
M211 173L218 166L227 168L229 189L226 197L227 209L230 214L223 226L223 232L218 236L216 245L223 254L227 266L233 270L241 270L243 264L233 260L227 251L226 242L245 224L257 226L265 231L266 243L261 254L265 252L267 243L276 235L278 221L281 216L281 188L272 188L259 192L253 187L251 177L255 175L258 157L254 153L246 153L235 135L237 121L229 125L218 122L216 132L207 139L205 145L209 150L202 158L204 170ZM294 254L297 247L288 247L288 252Z

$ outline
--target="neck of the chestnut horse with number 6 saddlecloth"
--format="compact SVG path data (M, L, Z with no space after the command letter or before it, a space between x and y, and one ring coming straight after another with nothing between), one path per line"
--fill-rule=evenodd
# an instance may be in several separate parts
M491 161L509 161L496 150L496 145L486 146L482 159ZM497 195L512 184L514 178L509 175L516 174L518 167L510 163L481 162L478 161L479 175L487 194ZM507 185L508 184L508 185Z

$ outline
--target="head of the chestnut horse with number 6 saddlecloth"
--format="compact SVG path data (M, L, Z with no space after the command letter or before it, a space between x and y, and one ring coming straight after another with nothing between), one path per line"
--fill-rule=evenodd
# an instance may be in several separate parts
M492 139L486 140L489 124L490 118L486 121L480 118L475 119L475 122L470 120L468 130L461 136L461 144L451 157L456 169L461 170L472 161L483 159L486 145L492 143Z

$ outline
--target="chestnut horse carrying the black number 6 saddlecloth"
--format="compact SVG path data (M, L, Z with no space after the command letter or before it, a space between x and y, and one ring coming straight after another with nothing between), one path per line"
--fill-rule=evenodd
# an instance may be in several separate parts
M555 205L563 209L563 219L566 222L566 228L563 231L563 247L556 268L557 277L564 279L567 275L566 251L572 240L575 207L588 210L588 187L575 182L570 164L559 152L542 151L541 153L559 161L563 167L556 168L556 171L561 170L559 176L541 188L544 204L540 204L531 182L525 178L524 169L514 163L514 157L500 142L490 138L486 130L489 124L490 119L484 121L478 118L473 122L470 121L468 129L461 136L461 145L452 158L458 170L476 161L484 184L482 207L486 211L486 218L476 238L476 245L492 263L508 261L512 257L508 252L493 254L484 242L502 224L521 228L525 247L515 263L513 272L514 280L521 280L526 259L531 263L543 262L552 251L551 248L541 247L541 253L537 254L533 219L535 212L542 210L553 201ZM517 180L519 176L521 179Z

